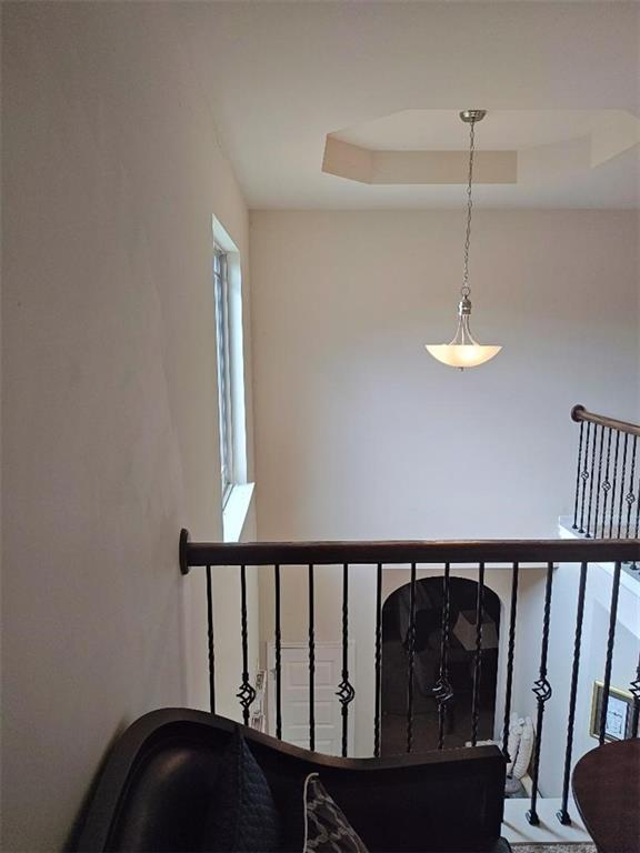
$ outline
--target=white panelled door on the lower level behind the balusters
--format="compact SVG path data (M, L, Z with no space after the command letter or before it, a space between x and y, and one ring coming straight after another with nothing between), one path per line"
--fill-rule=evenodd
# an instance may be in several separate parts
M276 736L276 654L269 645L269 734ZM349 671L353 648L349 643ZM342 714L336 691L342 680L340 643L316 644L316 752L340 755ZM350 679L352 681L352 678ZM356 700L349 705L348 751L353 749ZM303 643L282 643L282 740L309 749L309 650Z

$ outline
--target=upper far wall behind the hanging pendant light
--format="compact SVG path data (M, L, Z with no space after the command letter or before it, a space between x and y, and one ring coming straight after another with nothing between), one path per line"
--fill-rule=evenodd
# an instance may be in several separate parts
M638 411L637 213L479 210L459 372L463 212L253 212L262 539L556 534L569 411Z

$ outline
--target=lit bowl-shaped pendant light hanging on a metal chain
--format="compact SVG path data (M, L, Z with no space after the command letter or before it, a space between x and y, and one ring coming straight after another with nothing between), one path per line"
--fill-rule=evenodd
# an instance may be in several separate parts
M452 368L476 368L497 355L502 347L490 347L478 343L469 329L471 314L471 288L469 287L469 244L471 242L471 187L473 183L473 153L476 151L476 123L482 121L486 110L464 110L460 113L462 121L469 124L469 180L467 183L467 237L464 240L464 272L458 304L458 329L450 343L427 343L428 352L434 359Z

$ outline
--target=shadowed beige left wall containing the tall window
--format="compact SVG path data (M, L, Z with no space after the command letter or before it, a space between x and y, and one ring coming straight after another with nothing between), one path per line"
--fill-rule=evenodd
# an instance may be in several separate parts
M211 215L246 293L248 220L156 8L3 6L6 851L62 846L137 716L207 703L177 542L221 533Z

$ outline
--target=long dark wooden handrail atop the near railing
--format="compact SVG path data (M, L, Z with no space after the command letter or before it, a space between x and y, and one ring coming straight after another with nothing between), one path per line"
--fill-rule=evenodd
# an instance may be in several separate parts
M206 565L398 563L594 563L640 560L640 539L404 542L191 542L180 534L180 569Z

